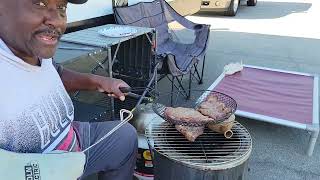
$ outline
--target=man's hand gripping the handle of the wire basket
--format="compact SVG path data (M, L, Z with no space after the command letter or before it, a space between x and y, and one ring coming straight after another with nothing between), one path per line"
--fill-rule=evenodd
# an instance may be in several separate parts
M121 101L125 100L125 94L120 91L120 87L129 87L127 83L120 79L114 79L114 78L109 78L109 77L104 77L104 76L97 76L94 75L92 77L93 81L97 85L97 90L99 92L105 92L109 96L113 96L116 98L119 98Z

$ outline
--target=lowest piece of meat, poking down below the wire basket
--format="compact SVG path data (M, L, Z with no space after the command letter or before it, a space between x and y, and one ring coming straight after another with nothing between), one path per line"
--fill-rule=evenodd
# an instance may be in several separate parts
M203 130L204 130L204 126L192 127L192 126L176 125L175 127L190 142L194 142L197 137L203 134Z

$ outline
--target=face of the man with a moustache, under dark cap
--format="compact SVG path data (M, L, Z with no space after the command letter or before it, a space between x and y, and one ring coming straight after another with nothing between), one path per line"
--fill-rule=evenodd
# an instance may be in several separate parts
M66 30L67 0L1 0L0 38L19 57L50 58Z

